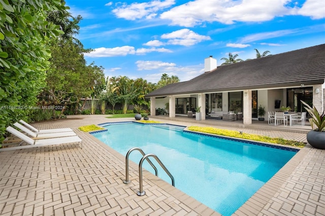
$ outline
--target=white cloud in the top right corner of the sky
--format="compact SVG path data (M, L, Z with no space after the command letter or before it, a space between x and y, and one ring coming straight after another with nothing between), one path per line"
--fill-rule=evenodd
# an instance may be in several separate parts
M321 19L325 17L324 7L323 0L307 0L297 13L303 16L310 16L312 19Z

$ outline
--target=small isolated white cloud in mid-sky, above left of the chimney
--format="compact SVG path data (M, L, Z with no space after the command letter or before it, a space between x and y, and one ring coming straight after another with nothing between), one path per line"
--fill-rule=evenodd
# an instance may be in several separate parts
M161 35L161 39L169 39L168 44L182 46L192 46L201 41L211 40L209 36L200 35L187 28L163 34Z

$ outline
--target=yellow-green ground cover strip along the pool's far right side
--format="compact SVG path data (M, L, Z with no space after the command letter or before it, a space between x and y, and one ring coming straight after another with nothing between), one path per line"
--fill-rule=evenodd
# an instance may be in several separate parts
M235 130L225 130L225 129L218 129L218 128L214 128L214 127L198 127L198 126L190 126L187 129L191 130L191 131L211 133L211 134L222 135L222 136L237 137L237 138L262 141L262 142L277 143L277 144L281 144L281 145L294 146L294 147L299 147L299 148L304 148L306 146L306 143L304 143L304 142L287 140L287 139L283 139L283 138L273 138L273 137L269 137L269 136L261 136L261 135L249 134L249 133L240 133Z

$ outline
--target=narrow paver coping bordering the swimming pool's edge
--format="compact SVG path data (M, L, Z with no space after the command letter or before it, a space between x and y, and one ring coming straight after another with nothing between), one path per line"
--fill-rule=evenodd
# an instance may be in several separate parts
M140 124L164 124L164 125L175 125L175 126L181 126L182 125L176 125L176 124L168 124L168 123L141 123L136 121L127 121L127 122L113 122L113 123L102 123L99 124L103 127L103 125L111 125L111 124L123 124L123 123L140 123ZM265 206L269 203L271 198L277 193L277 190L285 183L286 179L291 175L291 173L295 170L295 168L299 165L301 160L308 154L307 148L298 148L298 147L291 147L291 146L285 146L281 144L276 143L269 143L269 142L262 142L262 141L252 141L248 139L238 138L238 137L229 137L229 136L223 136L223 135L216 135L216 134L210 134L210 133L204 133L204 132L198 132L198 131L190 131L187 129L187 127L184 127L184 132L193 133L193 134L200 134L205 136L211 136L211 137L217 137L217 138L223 138L223 139L229 139L229 140L236 140L243 143L249 143L251 145L257 145L257 146L265 146L268 148L274 148L274 149L281 149L284 151L292 151L296 152L296 154L283 165L281 169L279 169L270 179L267 181L261 188L259 188L243 205L241 205L232 215L235 216L242 216L242 215L257 215L260 213ZM104 131L101 131L104 132ZM90 133L89 133L90 134ZM90 134L91 135L91 134ZM100 142L102 145L105 145L109 149L113 150L116 154L119 156L123 156L119 152L115 151L111 147L107 146L104 142L99 140L98 138L92 136L98 142ZM117 157L117 155L115 156ZM122 158L120 158L122 159ZM125 157L124 157L125 160ZM137 169L138 164L130 161L130 163L133 163L133 168ZM129 164L129 167L131 167L131 164ZM145 169L143 169L145 170ZM153 173L146 170L147 175L151 175L150 180L152 181L154 178L158 178L159 180L163 181L164 183L159 183L159 187L163 188L167 192L173 192L175 190L179 190L177 188L174 188L171 184L167 183L163 179L155 176ZM153 178L153 179L152 179ZM149 180L149 179L148 179ZM159 181L158 181L159 182ZM157 183L158 184L158 183ZM174 190L171 190L170 187L174 188ZM179 190L180 191L180 190ZM184 193L180 191L181 193ZM184 193L185 194L185 193ZM188 197L191 197L187 194L185 194ZM178 198L178 197L176 197ZM191 197L194 199L193 197ZM196 199L194 199L196 200ZM200 201L196 200L196 202L201 203ZM203 204L203 203L202 203ZM205 205L205 204L203 204ZM206 206L208 207L208 206ZM219 212L215 211L214 209L208 207L209 209L213 210L217 214L220 214ZM220 214L221 215L221 214Z

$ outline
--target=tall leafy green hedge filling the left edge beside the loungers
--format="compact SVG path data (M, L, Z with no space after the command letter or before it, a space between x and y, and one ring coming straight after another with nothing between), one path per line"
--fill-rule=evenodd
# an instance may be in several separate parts
M48 42L63 33L46 21L47 14L66 9L56 0L1 0L0 137L6 126L26 120L29 106L36 105L49 66Z

